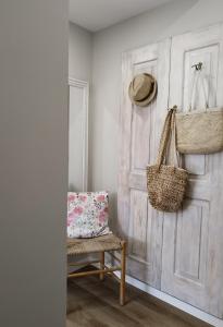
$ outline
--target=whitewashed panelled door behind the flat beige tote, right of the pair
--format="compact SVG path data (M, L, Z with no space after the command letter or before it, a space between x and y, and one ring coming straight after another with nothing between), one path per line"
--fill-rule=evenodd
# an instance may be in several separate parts
M209 107L223 106L221 24L172 39L170 106L188 109L191 66L200 61ZM203 107L202 95L194 102ZM188 155L184 165L190 172L187 198L182 210L163 218L161 289L222 318L223 153Z

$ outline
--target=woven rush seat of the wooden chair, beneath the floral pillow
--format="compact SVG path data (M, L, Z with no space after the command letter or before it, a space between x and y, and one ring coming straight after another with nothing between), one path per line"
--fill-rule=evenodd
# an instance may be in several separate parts
M121 250L121 242L122 241L112 233L92 239L67 238L67 255Z

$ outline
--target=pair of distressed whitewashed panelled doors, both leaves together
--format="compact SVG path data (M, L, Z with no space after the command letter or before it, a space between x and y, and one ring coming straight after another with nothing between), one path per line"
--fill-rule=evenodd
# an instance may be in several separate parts
M145 170L156 160L166 108L188 110L191 65L203 63L209 107L223 106L223 25L176 36L170 45L165 40L123 55L117 223L129 242L128 275L223 318L223 153L182 158L189 184L176 214L151 208ZM154 74L159 87L157 101L143 109L127 95L139 72ZM203 105L199 81L193 109Z

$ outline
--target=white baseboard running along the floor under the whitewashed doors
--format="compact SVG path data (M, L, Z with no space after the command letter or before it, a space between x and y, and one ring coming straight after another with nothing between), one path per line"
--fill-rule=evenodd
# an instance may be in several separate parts
M120 277L120 272L115 272L115 275L117 275ZM189 305L183 301L179 301L176 298L173 298L164 292L161 292L161 291L159 291L159 290L146 284L145 282L141 282L141 281L131 277L131 276L126 276L126 282L148 294L151 294L151 295L195 316L196 318L198 318L200 320L203 320L203 322L214 326L214 327L223 327L222 319L219 319L212 315L209 315L209 314L202 312L201 310L199 310L193 305Z

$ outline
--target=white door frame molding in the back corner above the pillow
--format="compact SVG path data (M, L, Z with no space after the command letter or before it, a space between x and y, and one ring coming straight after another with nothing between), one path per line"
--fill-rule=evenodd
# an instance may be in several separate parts
M77 87L83 90L83 129L80 141L83 144L82 150L82 191L87 191L88 189L88 112L89 112L89 83L82 80L76 80L69 77L69 89L71 87ZM70 108L71 110L71 108ZM78 190L79 191L79 190Z

